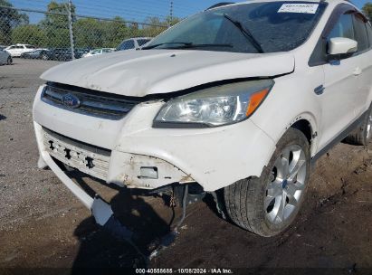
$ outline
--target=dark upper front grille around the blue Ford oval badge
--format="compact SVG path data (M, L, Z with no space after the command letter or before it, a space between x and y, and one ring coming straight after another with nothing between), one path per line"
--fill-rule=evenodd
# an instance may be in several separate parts
M63 97L73 95L78 106L68 106ZM119 95L88 90L70 85L48 83L43 90L42 100L62 109L83 113L103 119L122 119L141 100L128 99Z

